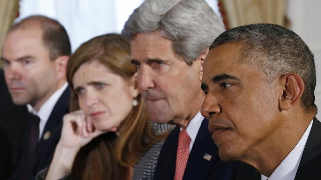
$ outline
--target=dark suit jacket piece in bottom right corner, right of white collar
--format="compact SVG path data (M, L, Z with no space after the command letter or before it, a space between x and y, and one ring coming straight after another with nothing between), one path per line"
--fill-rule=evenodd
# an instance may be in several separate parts
M311 131L303 150L295 180L320 180L321 177L321 123L313 119Z

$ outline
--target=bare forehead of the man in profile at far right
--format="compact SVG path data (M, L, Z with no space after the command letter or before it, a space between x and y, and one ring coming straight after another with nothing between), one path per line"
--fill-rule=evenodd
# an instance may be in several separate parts
M255 65L244 63L241 56L243 45L241 43L224 44L209 51L204 61L203 80L207 82L211 78L227 74L237 78L263 75ZM246 57L245 57L246 58Z

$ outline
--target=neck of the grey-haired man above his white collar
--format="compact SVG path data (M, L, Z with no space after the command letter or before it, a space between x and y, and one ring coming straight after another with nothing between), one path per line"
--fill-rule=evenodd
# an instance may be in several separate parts
M193 99L193 103L190 103L189 113L181 118L175 118L172 120L172 124L179 125L183 129L186 129L194 116L200 111L203 101L204 95L202 93L198 94L197 98Z

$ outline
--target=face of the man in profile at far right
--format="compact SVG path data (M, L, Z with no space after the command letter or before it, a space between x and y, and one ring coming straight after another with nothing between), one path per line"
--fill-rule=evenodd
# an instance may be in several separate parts
M204 61L202 89L206 94L201 114L223 160L242 160L271 145L281 123L277 80L254 65L241 63L241 44L225 44Z

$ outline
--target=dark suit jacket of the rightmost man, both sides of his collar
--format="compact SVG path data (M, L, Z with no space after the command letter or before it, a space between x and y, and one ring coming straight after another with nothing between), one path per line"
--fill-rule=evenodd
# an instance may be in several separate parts
M261 174L246 163L239 163L233 180L261 180ZM314 118L294 180L321 180L321 123Z

